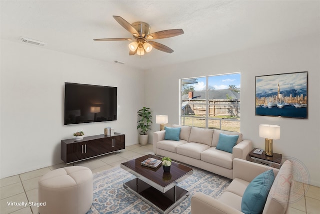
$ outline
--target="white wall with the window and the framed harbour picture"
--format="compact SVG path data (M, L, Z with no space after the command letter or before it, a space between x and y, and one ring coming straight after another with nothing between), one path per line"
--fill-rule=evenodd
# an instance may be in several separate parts
M154 115L178 121L178 80L197 76L241 72L241 126L244 139L264 147L259 124L281 126L281 139L273 141L273 152L294 157L305 164L310 182L320 186L320 36L309 35L237 53L190 61L145 72L146 106ZM255 76L308 71L308 119L255 116ZM154 123L152 130L159 130ZM151 139L150 139L151 142Z

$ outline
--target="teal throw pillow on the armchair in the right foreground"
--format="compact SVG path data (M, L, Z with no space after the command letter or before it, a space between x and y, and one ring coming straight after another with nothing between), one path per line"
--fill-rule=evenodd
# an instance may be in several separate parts
M262 213L273 181L274 173L272 169L256 176L244 190L241 211L245 214Z

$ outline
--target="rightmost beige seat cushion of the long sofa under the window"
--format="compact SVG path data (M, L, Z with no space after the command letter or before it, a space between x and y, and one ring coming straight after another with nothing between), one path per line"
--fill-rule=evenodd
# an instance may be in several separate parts
M223 168L232 169L232 154L211 147L201 152L201 160Z

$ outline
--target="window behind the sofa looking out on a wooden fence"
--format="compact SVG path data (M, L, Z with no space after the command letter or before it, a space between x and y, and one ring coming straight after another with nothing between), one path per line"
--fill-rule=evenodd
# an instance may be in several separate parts
M240 73L180 80L180 124L240 132Z

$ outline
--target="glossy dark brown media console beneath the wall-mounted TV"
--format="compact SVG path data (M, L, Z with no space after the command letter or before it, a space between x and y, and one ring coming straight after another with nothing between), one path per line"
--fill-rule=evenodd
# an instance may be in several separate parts
M84 159L115 152L125 147L125 135L115 133L113 136L104 134L83 137L82 140L61 140L61 159L73 163Z

